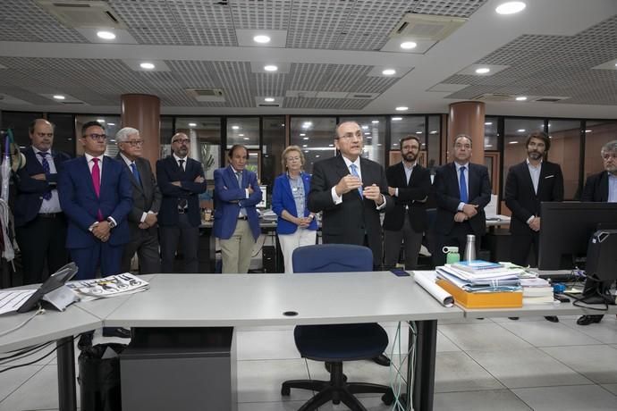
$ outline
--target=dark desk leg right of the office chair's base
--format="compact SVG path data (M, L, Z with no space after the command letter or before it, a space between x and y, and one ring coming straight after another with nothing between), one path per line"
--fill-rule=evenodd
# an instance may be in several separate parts
M418 321L416 324L418 336L416 339L415 379L413 381L413 409L415 411L433 411L437 320Z

